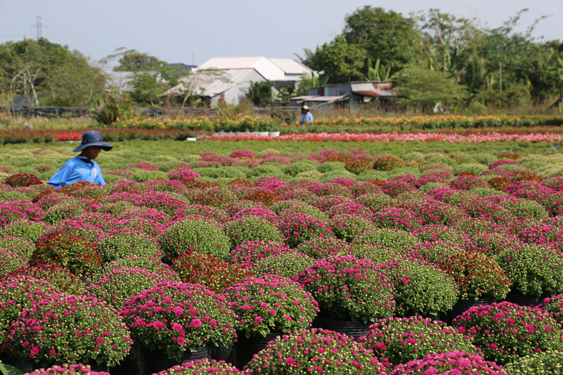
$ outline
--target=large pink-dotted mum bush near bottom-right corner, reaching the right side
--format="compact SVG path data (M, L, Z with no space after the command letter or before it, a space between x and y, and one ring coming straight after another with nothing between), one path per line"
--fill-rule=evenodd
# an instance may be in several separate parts
M505 364L545 350L563 350L563 329L543 310L510 302L470 308L456 317L453 326L470 335L485 359Z

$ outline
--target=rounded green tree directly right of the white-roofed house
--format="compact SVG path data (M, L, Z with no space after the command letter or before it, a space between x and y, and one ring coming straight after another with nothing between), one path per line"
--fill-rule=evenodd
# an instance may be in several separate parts
M332 42L317 47L309 66L322 71L321 77L328 77L330 83L341 83L359 79L366 59L365 49L337 36Z

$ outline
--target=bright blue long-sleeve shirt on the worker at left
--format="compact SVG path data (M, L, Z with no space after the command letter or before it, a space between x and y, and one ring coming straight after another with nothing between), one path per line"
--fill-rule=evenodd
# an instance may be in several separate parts
M106 181L102 177L102 170L95 161L87 163L78 156L68 160L49 180L48 184L60 189L63 184L72 185L78 181L95 182L105 185Z

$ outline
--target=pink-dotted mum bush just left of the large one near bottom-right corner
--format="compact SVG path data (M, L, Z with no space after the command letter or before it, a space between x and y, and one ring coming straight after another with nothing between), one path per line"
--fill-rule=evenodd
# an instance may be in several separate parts
M372 349L379 361L385 359L393 366L453 350L479 354L469 337L444 322L421 316L378 320L359 342Z

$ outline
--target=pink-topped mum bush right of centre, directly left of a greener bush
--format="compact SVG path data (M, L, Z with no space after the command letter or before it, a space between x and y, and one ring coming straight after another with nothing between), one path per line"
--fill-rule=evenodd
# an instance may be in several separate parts
M313 294L322 315L368 323L395 312L395 289L380 270L367 259L343 255L317 260L299 281Z

